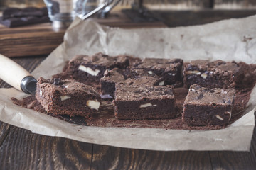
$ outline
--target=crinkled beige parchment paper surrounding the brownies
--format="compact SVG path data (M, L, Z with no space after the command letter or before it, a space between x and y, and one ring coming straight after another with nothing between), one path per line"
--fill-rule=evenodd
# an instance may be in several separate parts
M125 30L100 26L76 18L65 33L64 42L32 73L48 78L61 72L74 55L134 55L136 57L178 57L235 60L256 63L256 16L230 19L203 26ZM221 130L165 130L152 128L99 128L67 123L50 115L16 106L11 97L26 96L16 89L0 89L0 120L34 133L66 137L116 147L151 150L249 150L255 126L256 88L246 114Z

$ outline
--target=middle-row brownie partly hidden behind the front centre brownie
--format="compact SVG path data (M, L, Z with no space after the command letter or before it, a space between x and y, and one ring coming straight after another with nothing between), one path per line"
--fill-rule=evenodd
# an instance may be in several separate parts
M101 94L110 94L114 97L115 84L117 83L133 84L133 85L151 85L161 86L164 85L164 79L156 75L144 72L138 74L137 72L131 72L129 69L117 69L106 70L104 77L100 79L100 92Z

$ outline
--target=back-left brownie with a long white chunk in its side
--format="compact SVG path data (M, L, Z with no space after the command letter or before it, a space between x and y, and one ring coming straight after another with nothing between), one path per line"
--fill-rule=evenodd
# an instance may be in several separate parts
M73 79L78 81L99 81L106 69L114 67L125 69L129 66L129 57L119 55L110 57L97 53L92 56L77 55L68 63L66 72L70 72Z

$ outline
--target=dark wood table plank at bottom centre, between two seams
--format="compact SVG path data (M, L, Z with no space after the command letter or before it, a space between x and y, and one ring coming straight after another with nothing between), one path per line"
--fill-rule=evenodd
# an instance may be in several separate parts
M94 145L92 169L212 169L208 152L159 152Z

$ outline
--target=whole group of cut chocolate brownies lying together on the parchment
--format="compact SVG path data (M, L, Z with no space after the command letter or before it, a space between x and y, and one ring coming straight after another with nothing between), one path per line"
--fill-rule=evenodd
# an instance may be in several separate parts
M235 62L144 58L97 53L75 56L53 79L38 79L36 98L52 114L90 116L113 100L117 119L173 119L174 90L189 89L182 119L188 125L227 125L235 86L243 79ZM61 79L60 79L60 78Z

